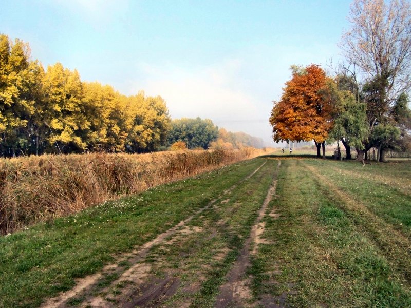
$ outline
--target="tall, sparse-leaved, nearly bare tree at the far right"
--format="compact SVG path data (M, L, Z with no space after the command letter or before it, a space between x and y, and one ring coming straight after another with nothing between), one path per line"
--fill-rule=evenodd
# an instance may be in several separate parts
M366 103L374 136L376 126L393 122L389 110L411 86L411 5L402 0L354 0L349 21L351 27L343 35L341 47L364 77L359 96ZM375 143L364 140L363 147L357 148L357 160L362 160L371 146Z

